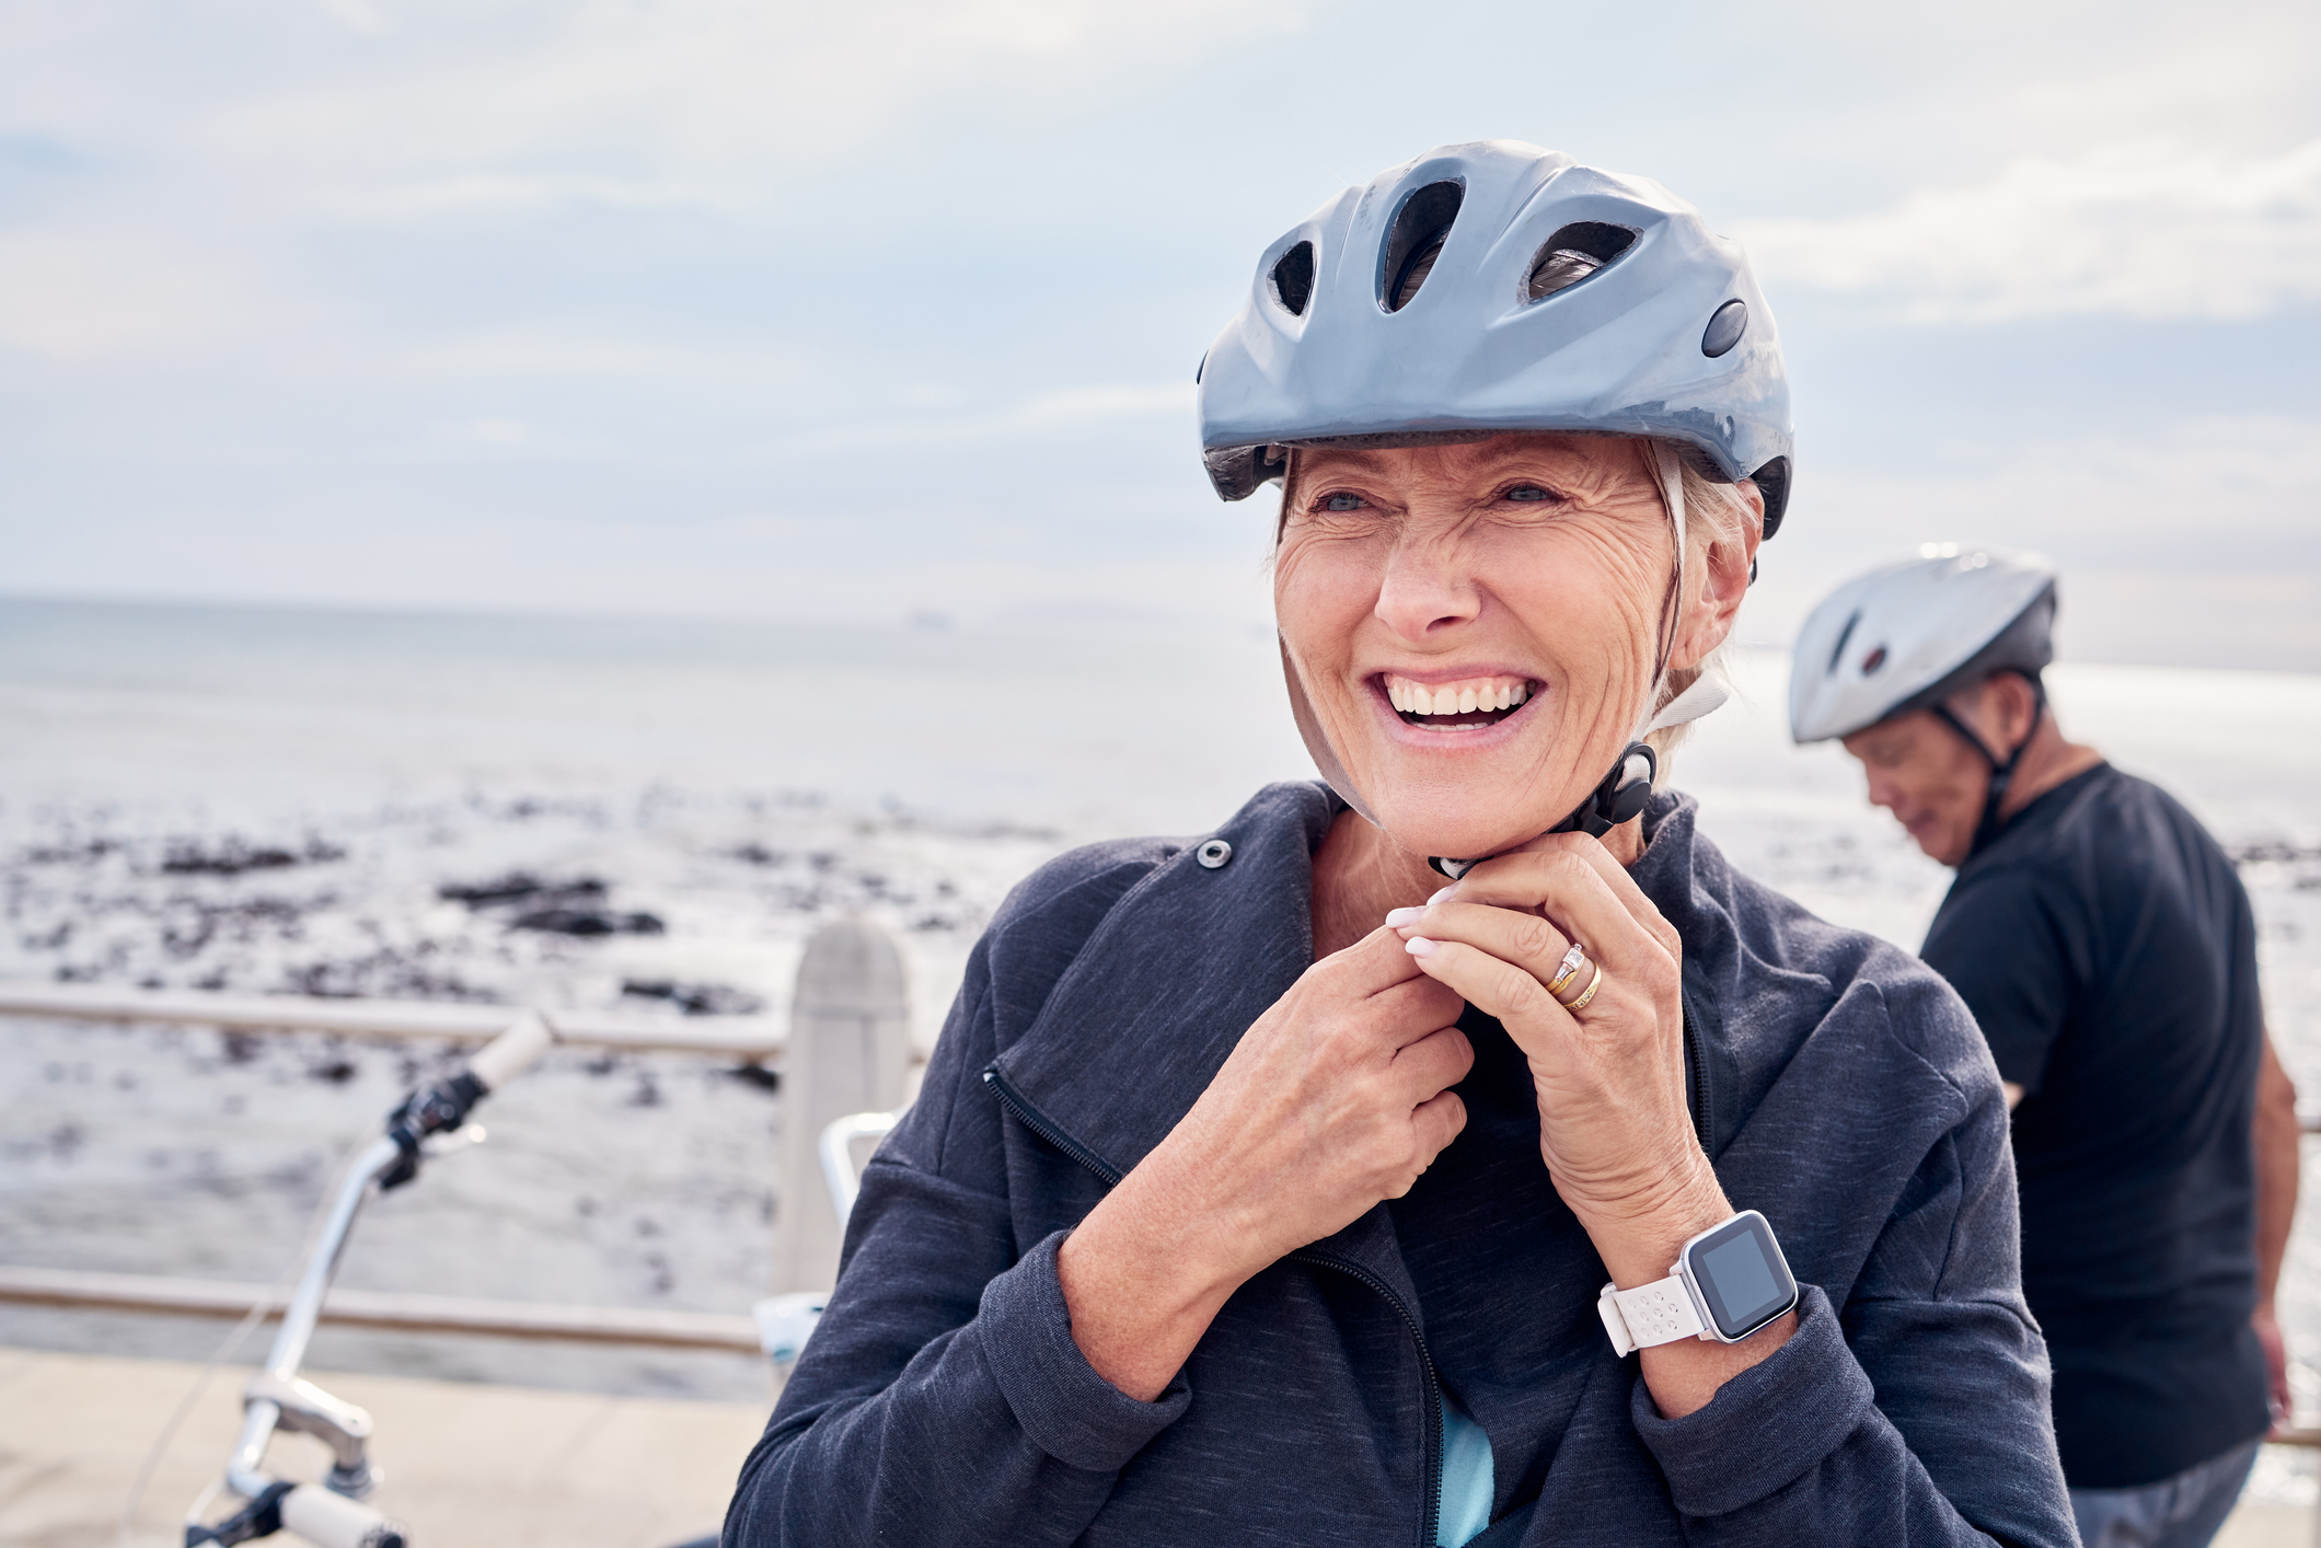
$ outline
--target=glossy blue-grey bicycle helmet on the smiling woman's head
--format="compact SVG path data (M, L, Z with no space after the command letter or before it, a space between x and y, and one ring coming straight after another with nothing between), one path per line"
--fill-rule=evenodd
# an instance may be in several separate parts
M1511 139L1441 146L1349 188L1258 260L1202 367L1223 499L1281 448L1650 436L1789 504L1789 385L1748 258L1650 179Z

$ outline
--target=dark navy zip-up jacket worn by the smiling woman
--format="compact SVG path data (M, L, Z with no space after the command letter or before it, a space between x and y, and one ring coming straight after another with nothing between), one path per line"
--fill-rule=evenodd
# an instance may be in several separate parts
M1010 896L863 1172L726 1548L1425 1548L1446 1383L1492 1439L1490 1548L2077 1541L1973 1019L1917 959L1736 875L1680 796L1632 875L1685 942L1694 1123L1803 1288L1783 1348L1660 1418L1499 1079L1506 1035L1469 1012L1469 1128L1432 1191L1242 1286L1156 1402L1098 1376L1056 1246L1311 963L1337 810L1274 784L1219 829L1221 868L1093 845Z

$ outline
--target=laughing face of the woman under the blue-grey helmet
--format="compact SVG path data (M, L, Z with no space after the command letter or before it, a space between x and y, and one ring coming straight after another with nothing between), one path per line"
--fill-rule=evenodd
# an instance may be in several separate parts
M1274 613L1330 745L1402 847L1509 849L1620 757L1676 603L1646 457L1553 434L1295 453ZM1722 641L1731 606L1711 613L1706 629L1685 620L1671 666Z

